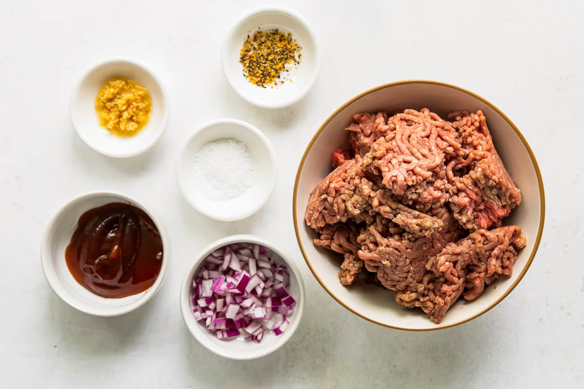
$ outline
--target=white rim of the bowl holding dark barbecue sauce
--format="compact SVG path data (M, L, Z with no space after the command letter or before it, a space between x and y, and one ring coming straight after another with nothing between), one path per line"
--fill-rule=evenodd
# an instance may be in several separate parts
M107 311L103 311L103 312L93 311L92 309L84 309L81 306L78 306L78 304L75 300L70 300L68 297L62 296L61 293L57 292L57 290L55 290L55 288L53 286L54 283L61 283L61 281L58 279L57 276L54 276L53 274L48 274L48 272L47 272L48 268L54 269L53 265L50 264L50 262L52 262L50 255L48 255L48 251L50 251L50 245L51 245L52 241L48 241L48 239L49 239L50 233L55 228L57 220L62 215L62 212L66 208L71 206L72 204L75 204L79 201L84 201L84 200L89 199L89 198L99 197L99 196L119 197L120 199L125 199L126 201L130 202L130 204L142 209L142 211L144 211L148 216L150 216L150 218L152 219L154 224L157 226L158 232L160 233L161 240L162 240L162 248L164 249L164 256L162 257L162 264L160 267L160 272L158 273L156 280L154 281L154 283L152 284L152 286L150 288L145 290L145 292L140 292L140 293L144 293L145 298L138 299L135 302L128 304L128 306L124 309L120 309L119 307L109 307L109 308L105 309ZM81 215L79 215L79 216L81 216ZM158 293L158 290L160 290L160 288L162 286L162 282L164 282L166 270L168 268L168 261L169 261L170 257L171 257L170 236L166 232L166 227L162 223L162 220L161 220L161 218L159 218L158 214L156 212L152 212L150 208L148 208L147 206L144 205L144 203L142 203L140 201L136 201L133 197L130 197L126 194L123 194L121 192L116 192L116 191L91 191L91 192L85 192L84 194L81 194L81 195L75 196L74 198L71 198L69 201L67 201L65 204L61 205L58 208L58 210L54 213L53 217L47 223L47 225L44 229L43 237L41 238L41 244L40 244L41 269L43 270L44 278L47 280L48 285L51 287L51 289L53 290L55 295L57 295L68 306L70 306L74 309L77 309L80 312L90 314L92 316L97 316L97 317L121 316L121 315L130 313L131 311L137 310L138 308L140 308L141 306L143 306L144 304L149 302L152 299L152 297L154 297ZM62 258L62 259L65 260L65 258ZM139 293L136 293L136 294L139 294Z

